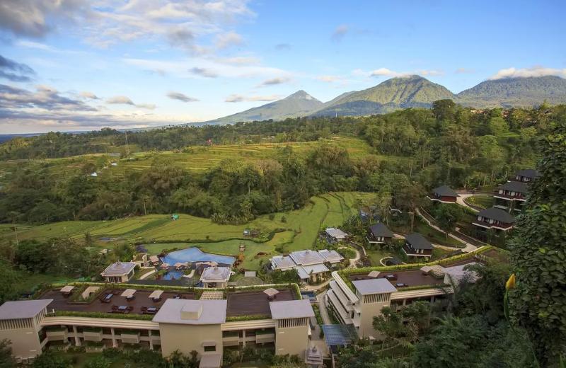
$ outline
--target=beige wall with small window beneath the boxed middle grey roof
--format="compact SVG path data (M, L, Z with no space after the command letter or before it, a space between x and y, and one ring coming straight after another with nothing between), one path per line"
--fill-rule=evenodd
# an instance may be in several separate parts
M170 323L159 323L161 335L161 353L168 357L175 350L185 355L190 355L192 350L199 353L199 357L205 354L222 355L222 331L220 325L181 325ZM216 343L215 352L204 352L202 343Z

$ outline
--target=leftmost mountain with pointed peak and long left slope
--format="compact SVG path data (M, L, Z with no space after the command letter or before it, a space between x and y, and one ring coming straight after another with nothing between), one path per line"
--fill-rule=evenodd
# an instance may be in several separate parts
M307 116L323 107L323 103L305 91L296 91L290 96L272 103L250 108L249 110L219 119L202 122L203 124L233 124L253 120L284 120L287 117Z

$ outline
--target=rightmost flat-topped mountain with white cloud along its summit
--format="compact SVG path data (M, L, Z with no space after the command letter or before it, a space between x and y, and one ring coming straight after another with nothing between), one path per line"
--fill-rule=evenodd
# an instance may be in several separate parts
M540 105L544 101L566 103L566 79L560 76L532 76L483 81L461 91L456 102L475 108Z

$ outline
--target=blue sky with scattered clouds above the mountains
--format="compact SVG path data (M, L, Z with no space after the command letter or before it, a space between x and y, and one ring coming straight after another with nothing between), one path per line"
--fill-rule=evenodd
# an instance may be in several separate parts
M563 1L1 0L0 134L212 120L419 74L566 77Z

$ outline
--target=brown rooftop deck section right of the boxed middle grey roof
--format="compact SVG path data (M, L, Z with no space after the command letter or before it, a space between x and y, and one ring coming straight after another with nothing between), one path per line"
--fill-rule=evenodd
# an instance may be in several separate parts
M289 289L279 289L274 301L294 300ZM228 294L226 316L271 316L270 299L261 290L253 292L233 292Z

